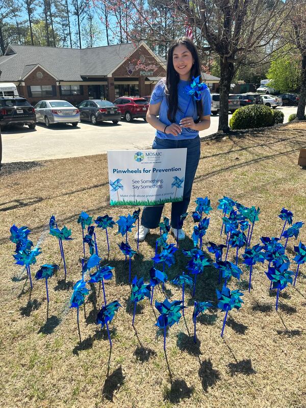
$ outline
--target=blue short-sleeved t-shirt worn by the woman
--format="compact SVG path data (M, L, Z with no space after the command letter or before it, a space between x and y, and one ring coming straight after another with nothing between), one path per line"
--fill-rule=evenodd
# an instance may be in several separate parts
M177 97L179 99L178 107L177 107L176 114L175 114L175 123L177 124L180 123L180 120L183 119L183 117L192 116L193 120L196 120L198 117L197 110L196 110L196 104L195 104L195 100L193 96L190 96L185 92L186 85L190 85L190 83L191 81L180 80L179 84L177 84ZM170 125L171 122L167 117L168 103L167 103L166 94L165 94L165 87L166 87L165 80L161 80L156 85L151 95L150 105L155 105L161 102L160 111L159 111L159 120L165 123L165 125ZM202 105L203 105L203 116L210 115L211 105L212 105L210 90L208 88L203 89L201 91L201 96L202 96ZM191 101L190 101L190 98L191 98ZM189 104L188 110L186 114L184 115L189 101L190 101L190 104ZM177 136L166 134L158 130L155 133L155 135L160 139L173 139L173 140L193 139L197 137L198 134L199 134L198 131L189 129L188 127L182 127L181 135L177 135Z

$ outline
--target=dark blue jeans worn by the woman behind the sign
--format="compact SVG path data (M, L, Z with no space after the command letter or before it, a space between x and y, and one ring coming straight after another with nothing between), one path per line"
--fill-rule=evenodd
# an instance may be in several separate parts
M183 192L183 201L172 202L171 226L177 228L180 216L187 212L190 202L193 179L200 159L200 138L186 140L170 140L155 138L152 149L174 149L187 147L186 172ZM164 206L144 207L141 217L141 225L147 228L157 228Z

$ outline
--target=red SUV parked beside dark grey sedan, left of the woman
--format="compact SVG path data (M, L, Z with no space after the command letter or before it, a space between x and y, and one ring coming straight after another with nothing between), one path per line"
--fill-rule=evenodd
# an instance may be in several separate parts
M149 107L148 101L137 96L120 96L114 101L114 105L121 112L121 117L127 122L134 118L143 118L145 120Z

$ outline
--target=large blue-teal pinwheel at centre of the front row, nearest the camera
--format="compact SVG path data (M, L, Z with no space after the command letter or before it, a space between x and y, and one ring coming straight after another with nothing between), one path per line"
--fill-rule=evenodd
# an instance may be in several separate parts
M181 319L181 310L183 310L183 304L181 300L174 300L169 302L165 299L163 302L155 301L155 307L161 314L157 319L156 326L164 329L164 351L166 351L166 331L167 326L171 327L174 323L179 323Z

